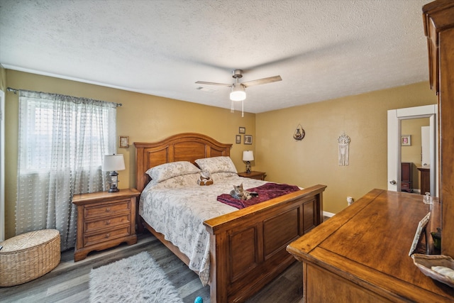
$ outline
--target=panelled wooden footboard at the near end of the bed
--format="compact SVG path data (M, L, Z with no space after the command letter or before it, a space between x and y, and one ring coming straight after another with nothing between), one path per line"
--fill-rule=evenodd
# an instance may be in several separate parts
M315 185L205 221L211 302L243 302L291 265L286 247L323 221L325 188Z

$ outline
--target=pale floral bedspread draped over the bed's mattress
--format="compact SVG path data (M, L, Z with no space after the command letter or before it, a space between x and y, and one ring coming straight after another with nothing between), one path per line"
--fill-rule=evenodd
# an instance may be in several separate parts
M266 182L217 173L212 175L214 184L200 186L196 183L199 174L182 177L148 184L140 196L139 214L187 255L189 268L199 272L201 282L206 285L209 282L210 238L203 222L237 210L216 198L228 194L233 185L243 183L248 189Z

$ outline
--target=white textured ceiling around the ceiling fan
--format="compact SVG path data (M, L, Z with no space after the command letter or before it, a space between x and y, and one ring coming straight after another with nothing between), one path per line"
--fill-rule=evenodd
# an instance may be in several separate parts
M429 1L0 0L0 63L227 109L194 82L280 75L246 89L260 113L428 80Z

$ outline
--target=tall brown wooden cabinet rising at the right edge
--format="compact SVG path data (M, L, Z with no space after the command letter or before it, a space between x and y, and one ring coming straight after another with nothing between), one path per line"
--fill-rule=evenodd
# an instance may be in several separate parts
M438 177L443 208L441 253L454 258L454 1L423 6L429 82L438 96Z

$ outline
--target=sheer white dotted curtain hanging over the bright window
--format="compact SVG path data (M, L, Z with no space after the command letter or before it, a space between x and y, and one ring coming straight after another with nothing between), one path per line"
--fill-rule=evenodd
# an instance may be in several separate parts
M74 247L74 194L106 188L104 155L116 153L116 103L19 91L16 234L60 231Z

